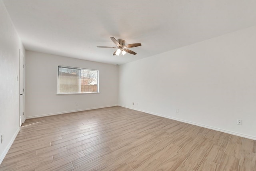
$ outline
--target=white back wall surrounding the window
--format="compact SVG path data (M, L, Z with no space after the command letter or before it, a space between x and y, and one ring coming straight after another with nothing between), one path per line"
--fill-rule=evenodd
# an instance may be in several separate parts
M56 95L58 65L99 70L100 93ZM25 99L26 118L118 105L118 66L26 51Z

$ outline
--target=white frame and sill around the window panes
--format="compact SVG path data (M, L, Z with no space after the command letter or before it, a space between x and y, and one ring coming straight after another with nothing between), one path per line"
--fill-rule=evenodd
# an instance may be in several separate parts
M59 91L59 68L67 68L67 69L74 69L74 70L88 70L88 71L94 71L94 72L97 72L97 92L81 92L81 88L80 89L80 92L75 92L75 93L60 93L58 92ZM80 72L81 73L81 72ZM57 95L73 95L73 94L94 94L94 93L100 93L100 85L99 85L99 78L100 76L100 70L94 70L94 69L86 69L86 68L79 68L79 67L71 67L71 66L62 66L62 65L58 65L57 67ZM79 76L79 87L81 87L81 74Z

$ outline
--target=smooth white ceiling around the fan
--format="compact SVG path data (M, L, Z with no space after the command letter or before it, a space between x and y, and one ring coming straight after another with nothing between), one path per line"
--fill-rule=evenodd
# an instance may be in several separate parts
M3 0L26 48L124 64L256 25L256 0ZM110 36L141 43L113 56Z

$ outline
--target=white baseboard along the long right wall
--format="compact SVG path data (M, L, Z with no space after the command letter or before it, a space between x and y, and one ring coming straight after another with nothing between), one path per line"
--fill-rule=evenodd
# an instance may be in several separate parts
M157 115L157 116L160 116L160 117L165 117L165 118L168 118L168 119L172 119L172 120L176 120L176 121L180 121L180 122L184 122L184 123L189 123L189 124L192 124L192 125L212 129L212 130L215 130L215 131L220 131L220 132L229 133L229 134L232 134L232 135L237 135L239 137L244 137L244 138L256 140L256 137L251 136L251 135L241 134L241 133L237 133L237 132L233 132L233 131L228 131L228 130L225 130L225 129L220 129L220 128L216 128L216 127L202 125L200 123L194 123L194 122L186 121L186 120L183 120L183 119L177 119L177 118L166 116L166 115L160 115L158 113L153 113L153 112L150 112L150 111L144 111L144 110L140 110L140 109L136 109L136 108L132 108L132 107L127 107L127 106L124 106L124 105L119 105L119 106L125 107L125 108L128 108L128 109L133 109L133 110L136 110L136 111L142 111L144 113L149 113L149 114L152 114L152 115Z

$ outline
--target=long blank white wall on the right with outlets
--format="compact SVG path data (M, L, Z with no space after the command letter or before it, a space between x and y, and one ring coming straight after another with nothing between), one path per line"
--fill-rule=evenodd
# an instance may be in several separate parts
M256 26L121 65L119 105L256 139L255 47Z

